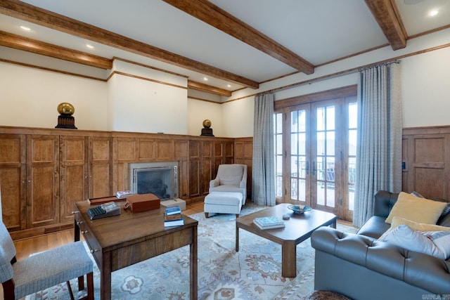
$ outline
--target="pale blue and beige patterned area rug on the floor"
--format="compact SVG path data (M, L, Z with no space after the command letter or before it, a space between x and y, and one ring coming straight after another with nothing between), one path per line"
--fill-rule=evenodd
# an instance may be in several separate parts
M241 215L264 207L245 204ZM302 299L314 290L314 249L309 239L297 246L297 277L281 276L281 245L240 230L239 252L235 251L233 214L217 214L198 223L198 299ZM353 228L338 224L338 228ZM189 299L189 247L156 256L117 270L112 275L112 299ZM77 290L77 280L72 280ZM95 299L100 278L94 263ZM79 294L79 296L82 296ZM70 299L67 286L57 285L28 296L27 300Z

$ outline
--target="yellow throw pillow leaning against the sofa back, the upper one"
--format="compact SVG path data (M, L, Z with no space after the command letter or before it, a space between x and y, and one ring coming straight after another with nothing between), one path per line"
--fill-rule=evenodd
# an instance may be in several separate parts
M444 207L446 202L428 200L400 192L397 202L387 216L386 223L391 223L394 216L399 216L418 223L435 224Z

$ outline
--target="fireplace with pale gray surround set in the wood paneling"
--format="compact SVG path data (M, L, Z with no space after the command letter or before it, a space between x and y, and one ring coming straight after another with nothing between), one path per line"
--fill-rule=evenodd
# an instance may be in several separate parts
M178 198L178 162L129 164L129 180L133 193L152 193L160 200Z

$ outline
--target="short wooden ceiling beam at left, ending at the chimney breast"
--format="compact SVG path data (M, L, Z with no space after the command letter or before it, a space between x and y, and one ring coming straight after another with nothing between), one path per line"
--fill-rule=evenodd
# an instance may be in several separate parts
M20 35L4 31L0 31L0 45L40 54L42 56L68 60L72 63L99 67L105 70L113 67L113 60L108 58L102 58L101 56L94 56L82 51L44 43L43 41L37 41L36 39L28 39L27 37L21 37Z

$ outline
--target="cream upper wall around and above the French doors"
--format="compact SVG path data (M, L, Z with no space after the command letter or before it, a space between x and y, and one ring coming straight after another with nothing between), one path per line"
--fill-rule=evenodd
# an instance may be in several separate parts
M439 48L450 44L450 29L429 34L408 41L408 48L392 51L390 46L380 48L370 53L361 54L338 61L330 65L317 67L314 74L294 74L276 81L261 84L259 89L243 89L226 100L240 99L223 104L226 136L253 136L252 102L255 94L277 89L282 86L301 83L309 79L319 79L327 74L337 74L345 70L377 63L390 58L407 56L408 53L424 53L401 58L401 94L403 103L403 125L443 126L450 125L448 112L450 111L450 47ZM428 51L432 50L432 51ZM312 84L303 84L275 92L275 100L282 100L294 96L307 95L318 91L336 89L342 86L359 84L359 73L340 75L330 79L323 79ZM246 97L248 96L248 97ZM244 104L245 103L245 104ZM236 113L240 114L241 124L236 122Z

